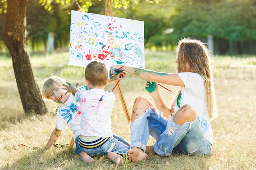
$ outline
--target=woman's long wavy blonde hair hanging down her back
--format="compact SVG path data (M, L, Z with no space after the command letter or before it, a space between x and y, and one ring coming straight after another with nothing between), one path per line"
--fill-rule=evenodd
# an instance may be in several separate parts
M210 119L217 117L216 96L213 86L213 73L210 65L210 54L207 46L199 40L183 38L176 48L177 73L185 69L185 63L190 66L190 72L198 73L204 79L207 97L207 108Z

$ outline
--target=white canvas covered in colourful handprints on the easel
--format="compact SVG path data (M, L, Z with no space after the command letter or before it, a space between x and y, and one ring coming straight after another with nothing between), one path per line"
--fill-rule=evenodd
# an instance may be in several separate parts
M68 64L94 60L144 68L144 22L71 11Z

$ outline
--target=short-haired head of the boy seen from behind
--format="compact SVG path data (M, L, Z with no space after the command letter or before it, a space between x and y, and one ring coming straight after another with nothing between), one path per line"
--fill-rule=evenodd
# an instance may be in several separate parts
M93 86L105 86L108 84L109 68L101 61L92 61L85 68L85 78Z

